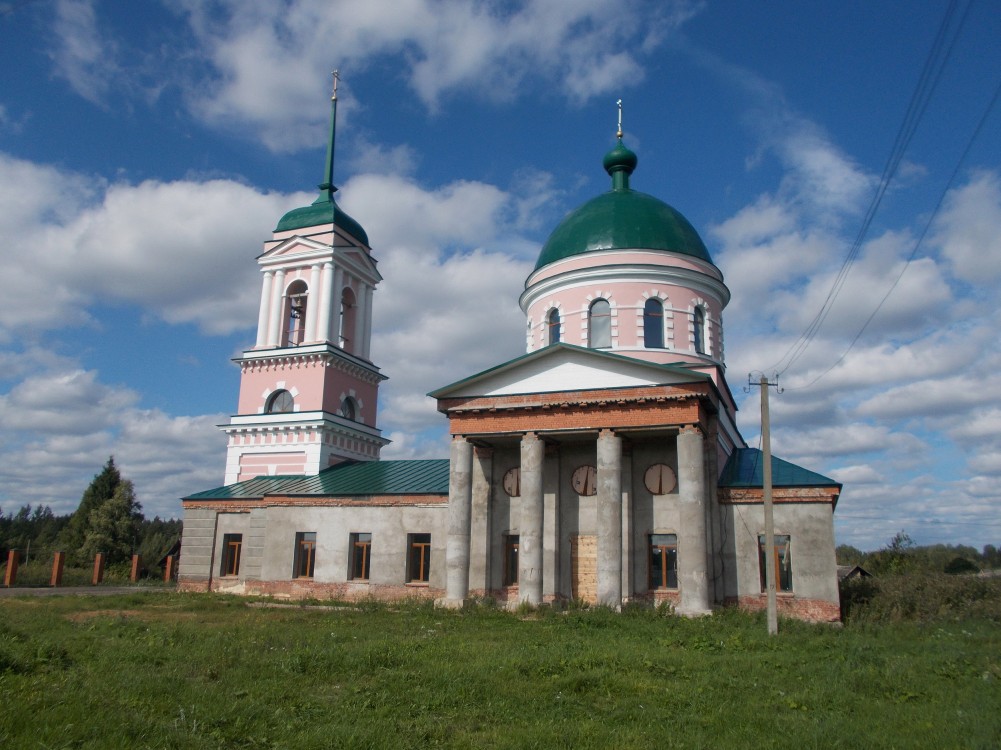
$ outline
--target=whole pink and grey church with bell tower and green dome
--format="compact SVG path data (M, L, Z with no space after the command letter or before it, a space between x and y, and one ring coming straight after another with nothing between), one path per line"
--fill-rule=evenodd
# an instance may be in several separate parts
M257 258L224 485L183 499L179 586L764 609L763 454L726 381L730 291L692 224L631 186L622 129L610 189L556 227L526 279L527 353L430 394L447 459L382 461L385 376L369 349L381 276L334 200L335 123L336 92L319 196ZM779 611L837 621L841 485L771 469Z

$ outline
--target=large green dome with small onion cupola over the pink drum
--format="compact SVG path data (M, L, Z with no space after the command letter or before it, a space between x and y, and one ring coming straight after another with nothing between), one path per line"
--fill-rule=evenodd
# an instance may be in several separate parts
M620 140L604 161L612 189L560 222L543 245L536 270L574 255L615 249L664 250L713 262L687 218L663 200L630 188L636 164L636 154Z

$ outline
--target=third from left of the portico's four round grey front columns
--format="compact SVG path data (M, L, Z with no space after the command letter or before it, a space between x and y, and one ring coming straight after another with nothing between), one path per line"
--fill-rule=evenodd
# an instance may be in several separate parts
M622 439L611 430L598 436L598 603L623 603Z

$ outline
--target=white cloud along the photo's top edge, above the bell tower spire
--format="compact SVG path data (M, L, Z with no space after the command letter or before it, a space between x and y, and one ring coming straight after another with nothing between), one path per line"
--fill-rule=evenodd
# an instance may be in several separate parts
M210 83L190 90L192 110L218 126L249 123L270 148L293 150L316 140L325 113L313 106L315 92L331 54L345 70L400 60L431 111L453 92L506 101L543 85L583 102L635 85L643 76L641 58L700 6L685 0L524 0L514 6L224 0L211 8L191 1L183 7L199 45L195 54L214 73ZM350 106L349 88L344 98Z

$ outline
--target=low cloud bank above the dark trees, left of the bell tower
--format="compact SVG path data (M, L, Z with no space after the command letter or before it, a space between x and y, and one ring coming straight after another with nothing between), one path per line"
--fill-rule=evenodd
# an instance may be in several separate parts
M48 505L76 510L90 478L110 455L135 482L147 517L179 518L178 499L221 484L222 415L171 417L136 407L139 395L101 383L98 372L41 368L0 396L4 513Z

